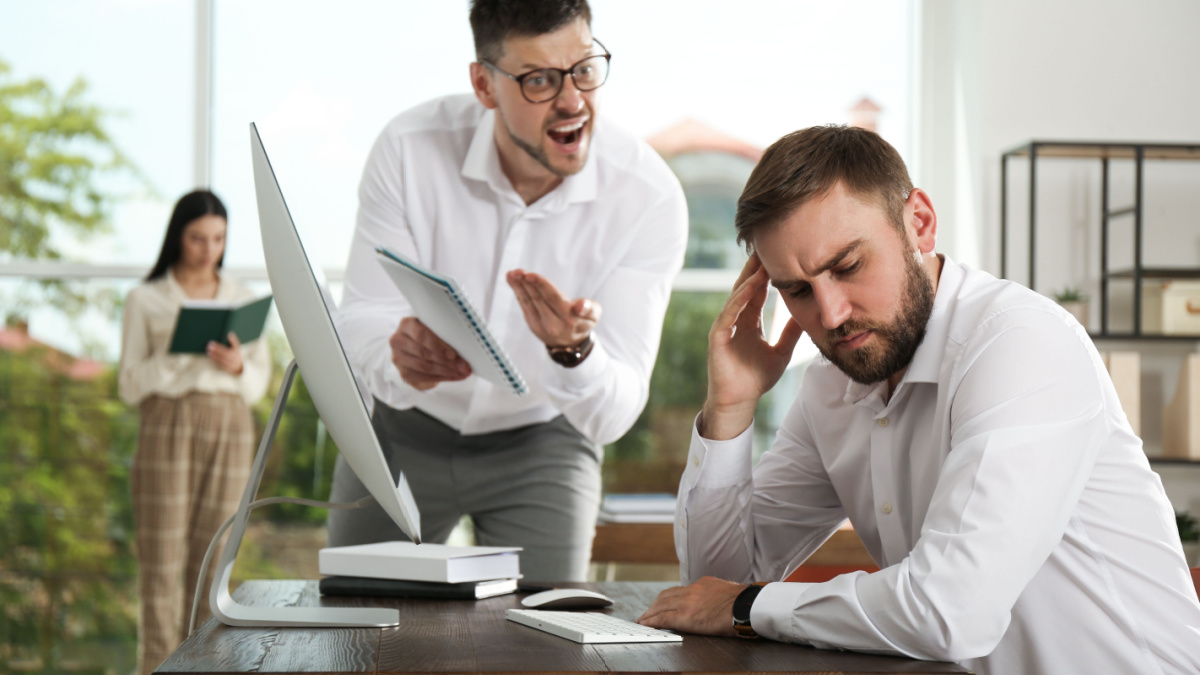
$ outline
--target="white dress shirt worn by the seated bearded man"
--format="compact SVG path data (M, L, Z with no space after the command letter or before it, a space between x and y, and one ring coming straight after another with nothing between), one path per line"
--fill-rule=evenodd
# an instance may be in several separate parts
M1200 603L1170 503L1099 356L1061 307L944 261L890 400L826 359L751 471L695 431L685 583L780 580L850 518L882 568L769 584L760 634L982 674L1196 674Z

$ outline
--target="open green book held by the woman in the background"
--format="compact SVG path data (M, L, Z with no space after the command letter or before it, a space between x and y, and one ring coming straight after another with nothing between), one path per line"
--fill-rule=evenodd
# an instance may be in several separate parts
M242 345L258 340L266 324L266 312L271 310L272 299L274 295L244 303L185 300L175 321L175 333L170 338L170 353L203 354L209 342L228 345L227 335L230 331L238 335Z

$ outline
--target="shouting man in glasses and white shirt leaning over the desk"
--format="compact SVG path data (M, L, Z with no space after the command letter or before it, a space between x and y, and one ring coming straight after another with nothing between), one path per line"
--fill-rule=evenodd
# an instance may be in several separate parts
M527 579L582 580L601 446L646 405L686 205L646 143L596 118L610 54L584 0L476 0L470 22L474 96L402 113L367 160L340 330L427 539L469 514L478 543L523 546ZM379 246L457 280L530 393L472 376ZM365 494L340 461L334 498ZM379 509L335 512L329 531L401 537Z

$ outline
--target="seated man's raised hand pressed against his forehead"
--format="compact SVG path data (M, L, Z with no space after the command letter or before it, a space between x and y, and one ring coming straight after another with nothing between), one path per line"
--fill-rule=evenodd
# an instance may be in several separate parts
M767 271L750 256L733 292L708 333L708 399L700 417L700 435L727 441L754 422L758 399L779 382L804 331L788 319L772 345L762 330L767 303Z

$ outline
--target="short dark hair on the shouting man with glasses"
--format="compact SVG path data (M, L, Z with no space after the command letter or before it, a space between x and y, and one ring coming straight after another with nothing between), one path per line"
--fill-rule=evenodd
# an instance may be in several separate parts
M592 26L588 0L472 0L475 58L494 64L504 56L505 40L554 32L576 19Z

